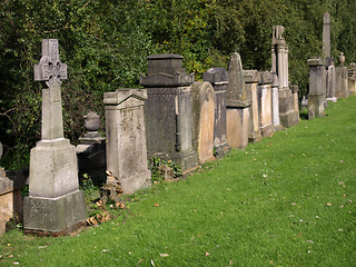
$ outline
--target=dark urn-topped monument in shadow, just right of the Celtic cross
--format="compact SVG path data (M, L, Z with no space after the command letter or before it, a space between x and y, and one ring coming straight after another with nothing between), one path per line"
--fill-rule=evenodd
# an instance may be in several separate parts
M98 132L100 116L89 111L85 119L87 132L79 138L76 152L80 171L93 170L106 166L106 138Z

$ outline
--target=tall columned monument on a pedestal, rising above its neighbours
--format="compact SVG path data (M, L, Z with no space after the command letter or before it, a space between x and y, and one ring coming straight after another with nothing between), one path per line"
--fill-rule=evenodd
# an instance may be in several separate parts
M278 76L279 119L283 127L291 127L298 123L299 109L294 105L295 95L289 88L288 81L288 44L283 33L283 26L273 27L271 69Z

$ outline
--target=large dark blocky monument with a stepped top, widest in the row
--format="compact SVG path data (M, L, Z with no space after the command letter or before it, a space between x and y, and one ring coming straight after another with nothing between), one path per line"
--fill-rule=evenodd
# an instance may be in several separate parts
M194 73L181 67L184 57L165 53L148 59L148 73L140 76L147 88L145 105L148 156L172 160L188 172L197 167L192 149L191 85Z

